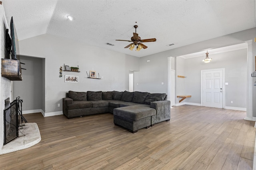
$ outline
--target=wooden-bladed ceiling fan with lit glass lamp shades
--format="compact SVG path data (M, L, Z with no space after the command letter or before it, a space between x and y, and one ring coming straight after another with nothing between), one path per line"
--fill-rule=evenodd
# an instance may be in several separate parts
M116 39L116 41L128 41L128 42L133 42L129 45L127 45L126 47L124 47L125 49L130 47L129 49L132 51L134 49L135 46L136 47L136 51L140 51L142 48L146 49L148 48L146 45L142 44L142 43L146 43L146 42L154 42L156 41L155 38L150 38L150 39L141 39L138 35L138 33L136 33L136 28L138 28L138 25L134 25L135 28L135 33L133 33L133 37L131 37L131 40L122 40L122 39Z

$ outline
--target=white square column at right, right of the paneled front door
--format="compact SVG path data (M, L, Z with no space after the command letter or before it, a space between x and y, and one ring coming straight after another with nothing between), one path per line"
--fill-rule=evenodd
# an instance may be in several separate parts
M246 117L244 120L256 121L256 117L253 117L252 110L252 40L245 41L247 43L247 81L246 81Z

